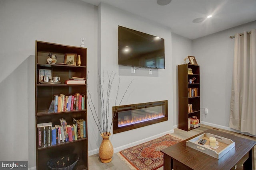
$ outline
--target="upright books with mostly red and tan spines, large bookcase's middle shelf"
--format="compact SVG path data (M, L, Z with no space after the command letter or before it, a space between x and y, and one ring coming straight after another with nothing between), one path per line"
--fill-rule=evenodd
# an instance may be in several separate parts
M54 111L73 111L85 109L85 94L76 93L65 96L64 94L54 95Z

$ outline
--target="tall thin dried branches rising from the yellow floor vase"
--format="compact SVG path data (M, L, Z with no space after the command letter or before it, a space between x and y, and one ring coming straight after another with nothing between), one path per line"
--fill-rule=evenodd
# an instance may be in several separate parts
M89 72L88 72L89 73ZM98 88L99 88L99 95L100 95L100 107L101 110L100 111L96 111L95 105L92 102L92 96L90 94L90 91L88 89L87 86L87 100L88 100L88 105L89 108L92 112L92 117L98 127L98 130L100 131L100 133L103 136L109 136L110 135L110 130L111 130L111 126L113 124L113 120L114 117L116 116L118 107L120 106L120 104L122 103L122 100L124 99L124 96L128 90L128 88L130 87L130 85L132 84L132 81L130 82L130 84L128 85L128 87L126 88L126 91L124 92L124 94L122 95L122 98L120 100L120 102L118 103L117 98L118 98L118 93L119 93L119 85L120 85L120 76L119 76L119 80L118 80L118 89L117 89L117 93L116 93L116 99L115 99L115 106L117 107L114 113L114 116L112 117L112 119L110 118L110 114L109 114L109 105L110 105L110 95L112 95L113 93L111 93L111 88L112 88L112 84L114 82L114 78L116 76L116 73L111 72L111 74L107 74L108 75L108 82L105 84L104 82L104 72L102 75L102 78L100 77L100 72L98 71L98 79L99 79L99 84L98 84ZM107 86L106 91L104 91L105 86ZM89 98L88 98L89 97ZM118 103L118 104L117 104ZM111 114L112 115L112 114ZM110 122L111 121L111 122ZM110 125L110 126L108 126Z

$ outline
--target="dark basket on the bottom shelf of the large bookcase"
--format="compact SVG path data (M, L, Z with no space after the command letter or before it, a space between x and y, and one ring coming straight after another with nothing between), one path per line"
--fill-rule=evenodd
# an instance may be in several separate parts
M78 154L70 154L53 158L47 162L47 166L51 170L72 170L78 161Z

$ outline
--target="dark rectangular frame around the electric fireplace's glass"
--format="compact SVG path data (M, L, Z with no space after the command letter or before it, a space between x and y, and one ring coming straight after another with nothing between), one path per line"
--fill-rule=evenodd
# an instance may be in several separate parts
M124 127L118 127L118 112L119 111L128 111L128 110L135 110L135 109L142 109L142 108L147 108L147 107L155 107L155 106L162 106L164 107L164 117L160 117L158 119L153 119L153 120L148 120L132 125L127 125ZM112 107L112 115L114 117L113 120L113 134L124 132L124 131L129 131L132 129L136 129L139 127L144 127L148 125L152 125L155 123L160 123L163 121L168 120L168 101L163 100L163 101L158 101L158 102L148 102L148 103L140 103L140 104L130 104L130 105L124 105L124 106L113 106Z

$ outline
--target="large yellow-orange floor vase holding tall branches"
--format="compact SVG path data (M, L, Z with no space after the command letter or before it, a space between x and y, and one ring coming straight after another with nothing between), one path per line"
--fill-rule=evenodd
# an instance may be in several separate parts
M112 143L109 140L110 135L111 133L108 136L104 136L103 133L101 134L102 142L100 144L99 155L100 160L103 163L108 163L112 161L114 149Z

